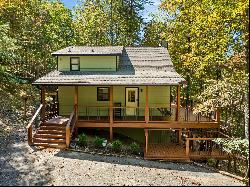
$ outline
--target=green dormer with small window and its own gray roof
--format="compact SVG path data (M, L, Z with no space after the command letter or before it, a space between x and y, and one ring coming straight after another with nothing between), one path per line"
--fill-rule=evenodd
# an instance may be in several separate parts
M59 71L117 71L122 46L70 46L52 53Z

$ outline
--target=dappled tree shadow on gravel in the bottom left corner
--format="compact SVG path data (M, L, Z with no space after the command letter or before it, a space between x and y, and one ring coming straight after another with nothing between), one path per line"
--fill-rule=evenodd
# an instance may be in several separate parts
M36 150L33 149L34 152ZM0 147L0 186L46 185L51 180L51 168L39 163L27 143Z

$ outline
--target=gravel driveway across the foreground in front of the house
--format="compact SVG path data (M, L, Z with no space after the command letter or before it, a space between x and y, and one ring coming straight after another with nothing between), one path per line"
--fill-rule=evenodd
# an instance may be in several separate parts
M0 145L0 185L244 185L205 168L27 145L26 131Z

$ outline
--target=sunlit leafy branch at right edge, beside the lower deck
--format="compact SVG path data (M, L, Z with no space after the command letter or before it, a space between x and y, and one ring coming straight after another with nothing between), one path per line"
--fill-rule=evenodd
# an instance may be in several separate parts
M233 155L240 154L249 159L249 140L248 139L223 139L216 138L213 140L217 144L223 145L224 151Z

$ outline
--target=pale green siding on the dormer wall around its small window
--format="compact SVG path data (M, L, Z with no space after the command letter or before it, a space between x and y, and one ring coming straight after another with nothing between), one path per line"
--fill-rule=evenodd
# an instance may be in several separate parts
M80 71L116 71L116 56L58 56L58 70L70 71L70 57L80 57Z

